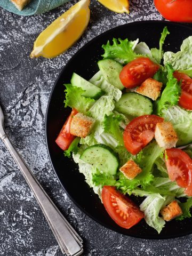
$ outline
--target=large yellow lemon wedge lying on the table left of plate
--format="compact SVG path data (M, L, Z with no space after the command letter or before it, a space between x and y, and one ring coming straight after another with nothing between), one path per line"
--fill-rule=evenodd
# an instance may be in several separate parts
M65 52L83 34L90 20L90 0L81 0L53 21L37 37L31 58L53 58Z

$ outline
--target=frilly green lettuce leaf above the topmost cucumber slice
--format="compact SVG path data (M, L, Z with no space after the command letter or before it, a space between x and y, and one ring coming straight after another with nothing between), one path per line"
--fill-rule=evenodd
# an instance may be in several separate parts
M102 55L103 59L115 59L123 64L126 64L141 55L134 52L134 47L138 41L122 40L121 38L113 39L111 45L108 41L106 45L102 45L105 53Z

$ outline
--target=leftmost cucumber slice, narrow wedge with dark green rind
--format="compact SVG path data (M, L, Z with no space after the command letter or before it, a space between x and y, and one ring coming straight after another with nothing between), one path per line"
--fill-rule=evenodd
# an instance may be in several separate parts
M80 87L85 92L82 94L84 97L89 97L93 99L99 99L103 94L102 90L95 86L94 84L86 81L83 77L73 73L71 77L72 86Z

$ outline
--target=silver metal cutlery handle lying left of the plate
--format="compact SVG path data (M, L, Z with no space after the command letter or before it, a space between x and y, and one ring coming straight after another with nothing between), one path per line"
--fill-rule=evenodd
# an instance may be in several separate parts
M12 157L19 166L19 169L21 170L29 187L34 193L37 202L41 206L44 214L46 214L46 219L49 219L52 230L54 229L55 231L57 231L57 235L59 236L61 242L63 242L63 244L66 246L69 255L81 255L83 252L82 246L77 243L76 239L70 233L69 229L67 228L66 222L63 220L61 213L59 213L59 210L56 208L50 197L46 194L42 186L36 180L33 173L28 169L27 165L25 164L17 150L14 148L7 135L3 135L1 139L3 140L7 149L9 149Z

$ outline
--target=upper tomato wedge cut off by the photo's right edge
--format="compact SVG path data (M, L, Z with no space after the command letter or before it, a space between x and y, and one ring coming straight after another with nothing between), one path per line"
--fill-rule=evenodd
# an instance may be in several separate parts
M174 77L181 81L181 97L179 105L183 108L192 110L192 79L186 74L174 71Z

